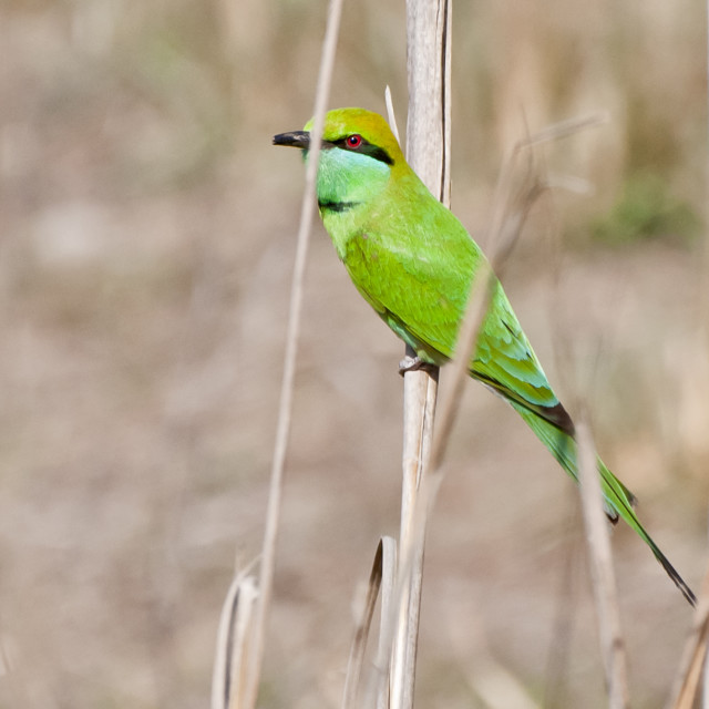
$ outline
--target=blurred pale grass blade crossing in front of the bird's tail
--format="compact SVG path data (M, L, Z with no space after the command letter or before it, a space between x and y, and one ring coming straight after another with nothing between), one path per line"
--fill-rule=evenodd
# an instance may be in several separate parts
M598 616L602 654L606 672L608 707L628 707L628 680L625 641L620 630L620 612L613 571L608 521L596 463L596 451L585 422L576 427L578 479L586 525L586 540Z

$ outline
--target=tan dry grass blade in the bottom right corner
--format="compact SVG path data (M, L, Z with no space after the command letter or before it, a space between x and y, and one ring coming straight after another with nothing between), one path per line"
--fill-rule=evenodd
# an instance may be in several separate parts
M668 709L692 709L699 687L706 686L707 645L709 644L709 569L701 584L692 628L679 665ZM702 670L705 670L702 672ZM705 702L706 706L706 702Z

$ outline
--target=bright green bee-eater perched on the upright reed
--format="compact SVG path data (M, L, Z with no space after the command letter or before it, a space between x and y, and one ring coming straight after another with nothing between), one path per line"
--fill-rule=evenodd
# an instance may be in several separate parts
M275 145L307 160L312 121ZM326 115L317 196L325 228L350 278L384 322L428 363L453 357L471 286L485 256L463 225L409 167L389 125L362 109ZM578 480L574 423L556 398L500 281L495 280L470 374L520 413ZM607 514L623 517L692 605L689 586L640 524L635 497L598 460Z

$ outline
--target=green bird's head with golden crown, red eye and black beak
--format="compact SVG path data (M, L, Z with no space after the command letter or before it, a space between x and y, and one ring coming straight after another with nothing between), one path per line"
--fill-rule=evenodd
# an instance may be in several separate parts
M314 121L302 131L274 136L274 145L304 151L307 160ZM318 169L318 202L359 205L378 194L392 171L405 161L397 138L379 114L363 109L336 109L325 116Z

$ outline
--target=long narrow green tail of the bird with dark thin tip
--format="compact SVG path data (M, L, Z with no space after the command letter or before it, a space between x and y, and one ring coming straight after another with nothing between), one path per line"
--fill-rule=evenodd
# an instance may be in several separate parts
M542 443L544 443L544 445L546 445L546 448L552 452L562 467L576 482L578 482L577 451L574 438L559 430L537 413L524 408L522 404L514 401L511 401L510 403L526 421L527 425L534 431ZM650 547L655 558L662 565L662 568L675 582L675 585L679 588L685 598L687 598L692 606L696 606L697 598L691 588L689 588L682 577L677 573L657 544L655 544L653 537L650 537L650 535L645 531L645 527L640 524L640 521L635 514L635 510L633 508L636 501L635 495L606 467L605 463L600 459L597 459L597 461L606 514L610 521L615 524L619 516L623 517Z

